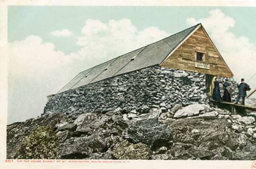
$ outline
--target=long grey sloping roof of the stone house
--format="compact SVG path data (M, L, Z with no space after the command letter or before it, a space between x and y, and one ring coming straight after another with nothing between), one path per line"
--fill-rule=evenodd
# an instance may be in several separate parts
M58 93L88 85L89 83L100 81L116 75L159 65L162 61L164 61L169 53L171 53L172 50L199 25L200 24L195 25L167 38L156 41L153 44L136 49L132 52L106 61L103 64L87 69L76 75ZM134 57L135 59L132 59Z

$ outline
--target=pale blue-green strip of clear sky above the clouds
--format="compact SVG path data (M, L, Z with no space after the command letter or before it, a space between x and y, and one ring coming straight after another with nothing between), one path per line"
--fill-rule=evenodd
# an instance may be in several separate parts
M140 30L156 26L170 34L179 32L187 26L186 18L196 19L207 15L212 9L221 9L227 16L236 20L231 28L237 36L246 36L256 44L256 34L252 25L256 25L255 7L44 7L10 6L8 8L8 40L22 40L33 34L55 45L55 50L65 53L78 51L77 36L87 19L129 18ZM67 28L74 33L68 39L55 38L49 34L54 30Z

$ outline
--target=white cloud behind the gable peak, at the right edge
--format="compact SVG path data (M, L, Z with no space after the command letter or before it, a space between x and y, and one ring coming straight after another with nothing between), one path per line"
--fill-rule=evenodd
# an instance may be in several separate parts
M198 23L203 24L237 81L240 81L242 77L246 81L256 72L256 45L251 43L248 37L237 37L230 31L230 28L235 26L233 18L226 16L219 9L215 9L209 11L208 17L198 20L193 17L187 18L187 23L191 26ZM255 88L256 77L249 83Z

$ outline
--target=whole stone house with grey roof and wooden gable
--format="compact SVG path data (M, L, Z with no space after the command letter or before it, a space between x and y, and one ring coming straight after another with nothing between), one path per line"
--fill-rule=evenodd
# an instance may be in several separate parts
M168 111L175 103L206 102L214 76L233 74L198 24L79 73L49 96L44 112Z

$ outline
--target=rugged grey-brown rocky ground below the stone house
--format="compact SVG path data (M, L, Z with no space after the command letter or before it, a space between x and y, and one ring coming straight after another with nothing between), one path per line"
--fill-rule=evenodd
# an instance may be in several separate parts
M232 114L202 103L178 103L169 111L162 107L55 113L12 123L7 126L7 158L21 158L21 147L31 149L26 145L31 132L48 125L59 151L49 158L256 159L256 112ZM45 138L49 139L47 132ZM38 144L34 146L44 152Z

